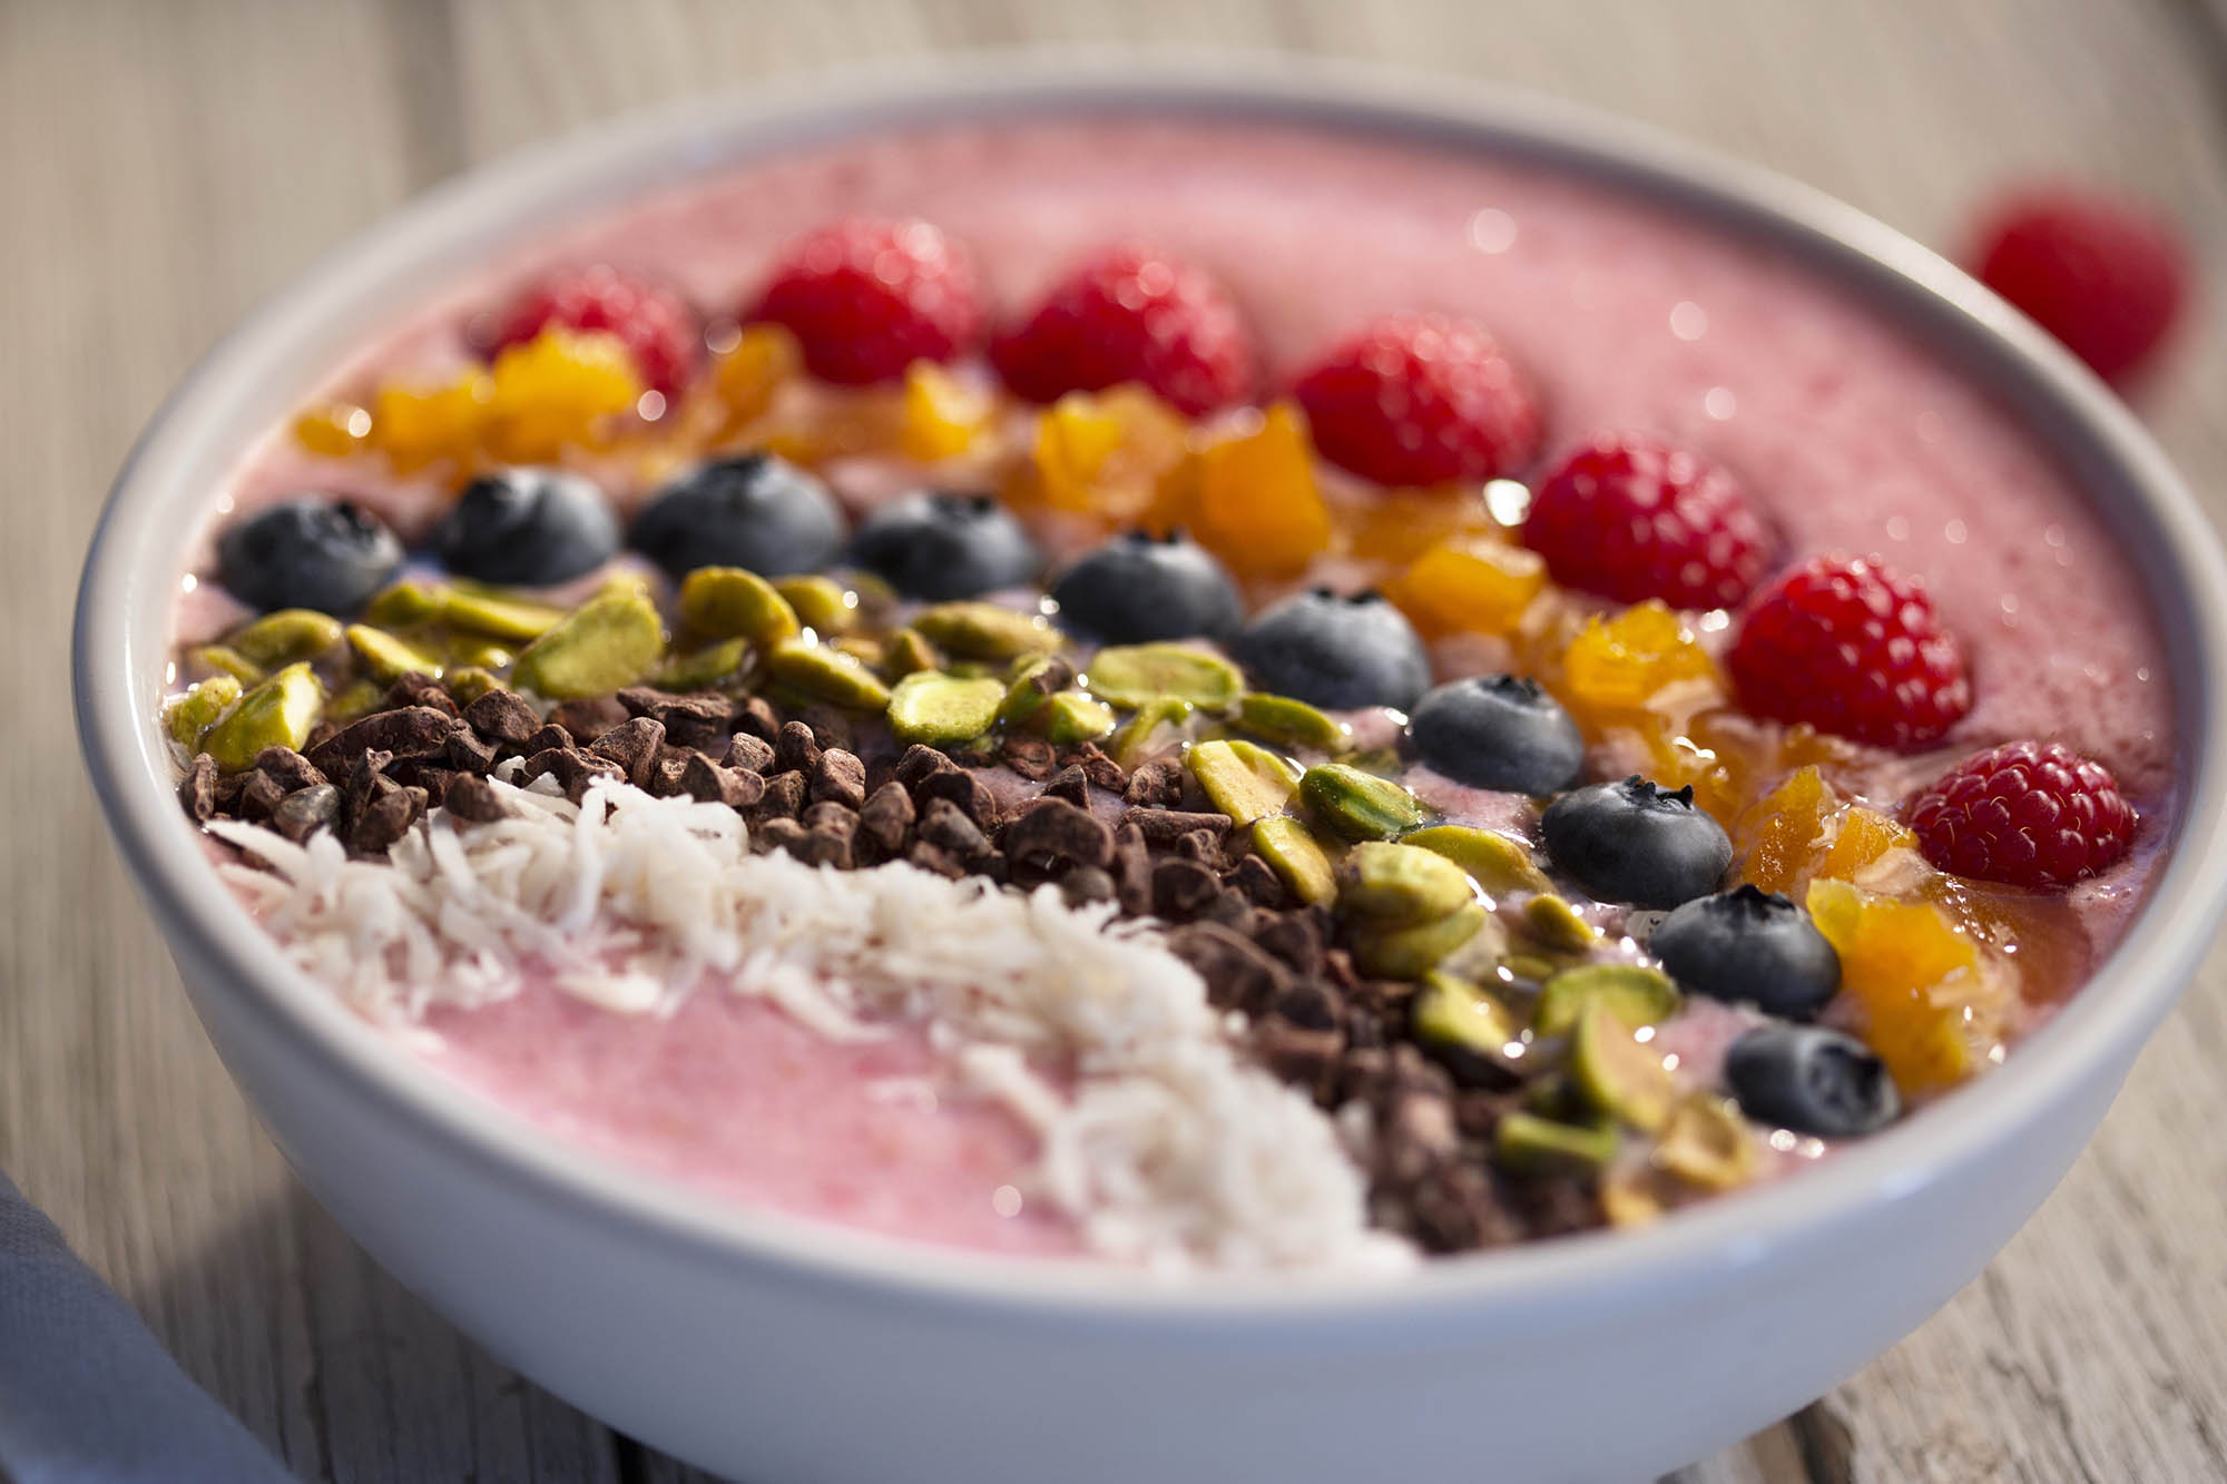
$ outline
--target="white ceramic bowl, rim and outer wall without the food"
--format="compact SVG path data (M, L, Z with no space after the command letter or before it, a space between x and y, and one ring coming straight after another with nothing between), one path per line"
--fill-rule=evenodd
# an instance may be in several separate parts
M290 969L207 869L156 726L183 533L314 379L459 270L644 187L866 129L1191 109L1548 160L1779 241L2000 392L2107 512L2162 613L2182 813L2125 945L2000 1072L1797 1179L1644 1232L1394 1283L989 1259L737 1210L479 1107ZM332 1214L499 1357L750 1480L1632 1480L1802 1406L1915 1328L2071 1165L2227 889L2227 566L2160 452L1953 267L1775 176L1474 85L1343 67L1024 62L688 102L432 192L216 348L116 481L76 700L109 827L194 1005Z

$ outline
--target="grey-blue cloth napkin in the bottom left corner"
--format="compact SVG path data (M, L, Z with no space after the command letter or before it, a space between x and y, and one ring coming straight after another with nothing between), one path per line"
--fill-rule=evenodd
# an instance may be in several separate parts
M0 1480L283 1484L292 1475L163 1353L0 1174Z

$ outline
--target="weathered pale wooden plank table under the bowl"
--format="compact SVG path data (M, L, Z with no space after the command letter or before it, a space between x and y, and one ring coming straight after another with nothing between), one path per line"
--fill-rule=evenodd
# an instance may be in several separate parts
M16 697L0 1168L301 1475L702 1477L408 1297L225 1081L69 735L67 606L102 488L241 310L459 167L673 94L1022 40L1505 78L1949 245L2007 176L2120 183L2178 212L2209 267L2205 323L2145 414L2227 499L2227 0L0 0L0 695ZM2223 1063L2214 954L2096 1145L1971 1288L1831 1397L1679 1477L2227 1480Z

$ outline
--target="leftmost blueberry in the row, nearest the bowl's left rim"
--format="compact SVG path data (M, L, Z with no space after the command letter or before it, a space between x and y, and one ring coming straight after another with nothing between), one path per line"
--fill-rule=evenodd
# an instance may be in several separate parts
M301 495L216 539L216 575L249 608L354 613L387 586L403 544L347 499Z

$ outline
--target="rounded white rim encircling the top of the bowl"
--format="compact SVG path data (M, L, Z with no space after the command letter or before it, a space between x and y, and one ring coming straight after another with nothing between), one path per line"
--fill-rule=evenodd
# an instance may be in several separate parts
M2158 602L2176 675L2178 804L2167 860L2136 922L2089 983L2007 1065L1920 1119L1822 1168L1726 1194L1644 1230L1603 1230L1421 1263L1396 1279L1214 1275L1140 1281L1131 1270L1013 1259L746 1208L626 1161L570 1150L521 1116L472 1099L287 965L252 922L174 802L171 762L147 704L160 655L140 642L147 606L167 613L196 490L176 470L203 455L212 412L247 397L303 325L416 272L428 283L459 250L506 241L526 216L563 221L690 176L811 143L906 123L1002 116L1138 114L1283 120L1410 138L1492 158L1579 169L1670 198L1735 232L1777 238L1866 292L2022 399L2038 439L2096 470L2080 479L2122 535ZM1982 374L1982 372L1973 372ZM2044 426L2044 414L2051 414ZM2062 419L2062 423L2058 421ZM243 443L229 439L232 455ZM2098 486L2113 486L2098 492ZM171 512L171 519L163 519ZM156 577L156 582L147 582ZM183 960L223 983L290 1056L379 1103L421 1139L514 1194L561 1205L628 1239L791 1283L926 1308L1051 1317L1107 1328L1258 1335L1294 1324L1461 1315L1481 1306L1554 1315L1574 1297L1737 1277L1875 1203L1891 1203L1984 1159L2029 1119L2073 1096L2140 1041L2178 998L2227 900L2227 559L2171 463L2131 412L2024 316L1900 232L1817 189L1677 140L1650 125L1501 85L1350 60L1276 53L1089 49L998 51L851 65L786 85L684 98L530 145L461 174L379 218L267 296L156 410L94 533L78 590L71 680L78 735L109 829Z

